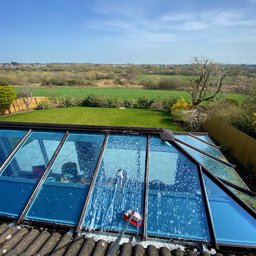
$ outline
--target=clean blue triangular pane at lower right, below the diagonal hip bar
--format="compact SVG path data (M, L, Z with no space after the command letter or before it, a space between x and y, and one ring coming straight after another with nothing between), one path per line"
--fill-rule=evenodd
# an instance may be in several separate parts
M204 174L218 243L256 245L256 220Z

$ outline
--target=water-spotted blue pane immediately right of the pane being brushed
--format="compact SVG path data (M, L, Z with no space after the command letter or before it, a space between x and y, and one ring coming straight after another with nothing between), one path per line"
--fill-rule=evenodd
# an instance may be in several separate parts
M197 169L159 137L150 137L147 234L210 241Z

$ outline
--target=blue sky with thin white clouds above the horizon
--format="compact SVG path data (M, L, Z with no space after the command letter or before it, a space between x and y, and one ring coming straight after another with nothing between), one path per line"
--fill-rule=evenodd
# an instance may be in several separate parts
M0 2L0 62L256 63L256 0Z

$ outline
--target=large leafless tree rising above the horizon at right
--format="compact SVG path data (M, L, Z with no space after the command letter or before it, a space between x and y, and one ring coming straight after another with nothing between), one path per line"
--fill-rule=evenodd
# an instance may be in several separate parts
M189 64L193 75L189 79L192 91L188 93L194 105L202 101L217 100L230 88L234 65L220 61L219 58L208 58L203 55L192 56Z

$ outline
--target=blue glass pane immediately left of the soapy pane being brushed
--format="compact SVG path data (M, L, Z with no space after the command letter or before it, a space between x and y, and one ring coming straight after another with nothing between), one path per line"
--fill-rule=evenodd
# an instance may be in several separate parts
M76 225L105 135L68 135L25 219Z

